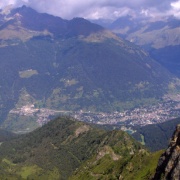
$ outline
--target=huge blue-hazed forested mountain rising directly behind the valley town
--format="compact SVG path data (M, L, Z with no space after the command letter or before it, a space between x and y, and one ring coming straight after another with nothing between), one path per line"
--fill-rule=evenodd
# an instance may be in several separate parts
M7 128L19 119L9 114L15 107L120 111L169 90L173 76L166 69L99 25L26 6L2 12L0 116Z

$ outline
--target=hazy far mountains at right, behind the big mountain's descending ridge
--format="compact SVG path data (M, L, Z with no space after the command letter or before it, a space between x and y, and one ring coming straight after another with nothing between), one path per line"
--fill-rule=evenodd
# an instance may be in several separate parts
M96 22L103 25L100 21ZM180 77L179 19L169 17L152 22L150 19L134 19L131 16L125 16L106 24L105 27L142 46L149 51L151 57Z

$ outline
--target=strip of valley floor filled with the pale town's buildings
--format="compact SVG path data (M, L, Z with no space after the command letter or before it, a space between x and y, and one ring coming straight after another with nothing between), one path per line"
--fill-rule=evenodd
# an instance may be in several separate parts
M46 124L52 117L59 115L72 116L75 119L94 123L111 125L139 125L157 124L169 119L180 117L180 94L167 95L157 105L135 108L123 112L85 112L80 111L58 111L47 108L37 109L33 104L13 109L10 114L20 116L34 116L40 126Z

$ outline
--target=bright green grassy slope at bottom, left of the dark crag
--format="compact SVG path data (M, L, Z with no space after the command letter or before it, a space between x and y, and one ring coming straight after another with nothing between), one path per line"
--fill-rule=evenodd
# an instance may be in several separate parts
M135 155L121 156L119 160L113 160L106 154L100 160L95 155L84 163L73 176L72 180L83 179L150 179L156 169L161 151L149 154L147 151L139 151Z

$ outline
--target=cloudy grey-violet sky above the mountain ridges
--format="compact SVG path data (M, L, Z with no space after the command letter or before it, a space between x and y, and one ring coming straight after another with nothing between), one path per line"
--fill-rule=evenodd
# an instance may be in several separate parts
M116 19L127 14L180 19L180 0L0 0L0 8L27 5L64 19Z

